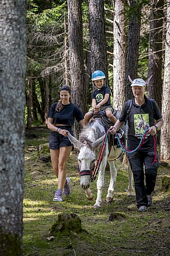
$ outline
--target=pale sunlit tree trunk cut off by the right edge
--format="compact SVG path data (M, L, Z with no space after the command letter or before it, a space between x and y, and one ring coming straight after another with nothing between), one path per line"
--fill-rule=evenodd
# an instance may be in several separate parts
M170 0L167 0L167 32L166 32L166 51L164 63L164 80L162 95L162 114L164 125L161 129L160 159L170 160Z

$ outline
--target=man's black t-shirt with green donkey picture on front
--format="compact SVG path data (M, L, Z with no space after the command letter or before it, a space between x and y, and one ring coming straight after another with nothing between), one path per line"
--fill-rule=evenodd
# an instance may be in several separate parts
M132 99L132 108L129 114L128 101L124 104L122 113L119 121L125 122L128 115L128 150L134 150L138 147L140 139L143 133L152 125L154 125L154 119L159 120L162 118L161 111L158 108L156 101L153 100L153 109L148 101L147 97L144 96L145 103L142 106L135 104L134 97ZM153 150L153 136L147 133L145 141L139 150L150 151Z

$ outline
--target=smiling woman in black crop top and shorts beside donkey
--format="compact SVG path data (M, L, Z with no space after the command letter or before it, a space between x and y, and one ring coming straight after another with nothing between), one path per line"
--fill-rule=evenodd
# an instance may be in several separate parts
M62 86L60 89L60 101L51 105L47 127L50 133L50 153L52 168L58 177L58 189L54 201L62 201L62 190L65 196L70 195L70 178L66 178L66 162L69 159L72 144L68 138L68 132L73 135L72 125L75 119L84 126L84 117L80 109L71 103L71 89Z

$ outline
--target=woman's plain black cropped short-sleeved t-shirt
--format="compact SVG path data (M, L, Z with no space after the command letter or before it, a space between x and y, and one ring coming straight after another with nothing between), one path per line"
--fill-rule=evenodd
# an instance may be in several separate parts
M62 105L62 109L60 111L56 111L57 103L51 105L48 117L53 118L53 124L63 124L72 126L74 124L75 119L77 122L80 122L84 119L80 109L70 103L68 105Z

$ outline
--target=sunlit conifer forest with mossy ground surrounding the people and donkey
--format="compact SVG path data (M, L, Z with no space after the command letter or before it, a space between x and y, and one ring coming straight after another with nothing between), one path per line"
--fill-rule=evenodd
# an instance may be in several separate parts
M0 17L0 255L168 255L169 187L162 178L169 177L170 160L170 0L2 0ZM97 69L105 73L111 103L119 110L132 97L128 76L151 77L146 95L157 102L164 125L157 137L159 210L154 206L145 217L134 213L134 199L125 194L127 173L120 161L113 206L103 204L95 212L93 203L80 202L76 153L69 160L75 190L62 206L51 203L55 177L48 153L42 160L37 150L48 142L48 111L59 100L61 86L69 85L72 103L85 114ZM75 137L79 132L75 123ZM115 210L124 213L108 222ZM61 250L56 239L47 241L59 212L77 213L85 227L67 241L61 238ZM147 239L156 247L150 249Z

